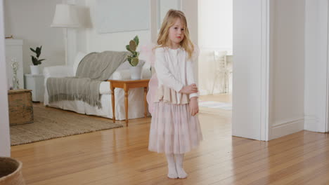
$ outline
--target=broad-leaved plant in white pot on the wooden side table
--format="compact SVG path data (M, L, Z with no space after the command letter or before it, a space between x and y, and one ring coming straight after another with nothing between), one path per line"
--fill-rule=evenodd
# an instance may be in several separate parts
M126 49L131 53L127 56L127 60L130 66L130 76L131 79L141 79L141 73L143 69L143 64L145 61L139 60L139 52L136 51L139 44L138 36L136 35L133 40L129 41L129 45L126 46Z

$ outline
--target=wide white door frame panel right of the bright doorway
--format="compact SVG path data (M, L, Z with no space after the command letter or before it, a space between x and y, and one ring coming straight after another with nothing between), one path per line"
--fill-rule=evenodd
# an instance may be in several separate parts
M271 138L269 30L269 0L233 0L233 136Z

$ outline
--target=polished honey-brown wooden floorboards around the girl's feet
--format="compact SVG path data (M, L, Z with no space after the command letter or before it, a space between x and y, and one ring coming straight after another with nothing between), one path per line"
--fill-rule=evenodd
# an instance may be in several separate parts
M12 157L23 162L23 176L34 185L329 184L328 134L302 131L270 142L231 137L230 115L199 115L204 140L186 154L187 179L168 179L164 155L148 151L150 118L13 146Z

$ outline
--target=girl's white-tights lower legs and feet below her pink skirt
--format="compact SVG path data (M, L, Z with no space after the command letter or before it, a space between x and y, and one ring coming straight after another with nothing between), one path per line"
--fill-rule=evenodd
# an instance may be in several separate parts
M183 169L184 154L167 153L166 157L168 162L168 177L170 179L185 179L187 174Z

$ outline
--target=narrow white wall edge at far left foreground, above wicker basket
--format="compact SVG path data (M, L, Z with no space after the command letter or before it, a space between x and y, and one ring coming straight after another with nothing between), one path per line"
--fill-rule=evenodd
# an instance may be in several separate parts
M4 43L4 2L0 0L0 156L11 156Z

